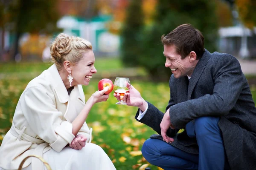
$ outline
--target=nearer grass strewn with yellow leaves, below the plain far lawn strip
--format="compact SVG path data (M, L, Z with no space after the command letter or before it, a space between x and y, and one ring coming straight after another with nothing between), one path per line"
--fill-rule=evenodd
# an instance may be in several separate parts
M0 133L5 134L12 123L13 113L17 101L26 87L28 80L1 80L0 81ZM97 90L98 81L90 82L84 86L85 98ZM169 100L168 84L153 84L149 82L132 82L140 90L144 98L155 104L162 111L165 110ZM97 103L93 106L87 118L89 127L93 127L93 143L100 145L105 152L114 160L118 170L131 170L132 165L137 164L143 158L130 155L131 151L141 150L143 142L155 132L137 122L134 115L137 108L115 104L116 98L111 92L107 102ZM123 141L124 136L131 139L131 144ZM125 157L124 162L119 158ZM145 160L141 162L145 164ZM156 170L156 167L152 167Z

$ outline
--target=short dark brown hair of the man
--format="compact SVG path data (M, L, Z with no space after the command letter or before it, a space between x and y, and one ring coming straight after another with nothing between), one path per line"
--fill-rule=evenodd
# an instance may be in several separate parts
M163 45L175 45L181 58L186 58L190 52L196 53L196 59L204 54L204 36L189 23L183 24L161 37Z

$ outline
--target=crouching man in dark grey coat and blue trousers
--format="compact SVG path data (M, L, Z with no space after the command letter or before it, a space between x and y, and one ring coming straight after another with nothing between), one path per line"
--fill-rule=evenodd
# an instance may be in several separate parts
M190 24L161 40L172 70L166 113L133 86L123 97L139 107L137 121L159 134L145 141L143 156L165 170L256 170L256 107L239 61L204 49L203 35Z

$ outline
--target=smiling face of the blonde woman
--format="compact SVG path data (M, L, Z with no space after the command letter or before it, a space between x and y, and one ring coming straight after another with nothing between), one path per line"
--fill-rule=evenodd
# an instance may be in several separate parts
M94 62L94 53L90 50L83 54L83 58L76 65L72 65L73 85L82 84L87 86L89 84L90 78L97 72Z

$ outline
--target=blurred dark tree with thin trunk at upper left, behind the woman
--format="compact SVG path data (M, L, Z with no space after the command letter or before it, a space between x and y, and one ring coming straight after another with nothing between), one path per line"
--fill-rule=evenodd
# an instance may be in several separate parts
M8 10L9 22L14 23L14 58L19 54L19 39L24 32L52 33L57 30L58 12L56 1L52 0L12 0Z

